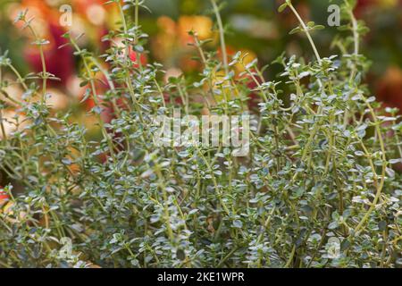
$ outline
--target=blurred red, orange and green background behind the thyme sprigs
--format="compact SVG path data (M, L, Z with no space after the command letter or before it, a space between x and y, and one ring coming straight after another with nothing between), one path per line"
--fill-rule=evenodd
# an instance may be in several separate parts
M322 0L295 0L297 10L306 21L315 21L327 26L329 2ZM27 31L21 31L19 24L13 23L16 15L24 9L35 16L34 26L42 37L50 40L46 46L46 65L48 71L61 79L52 83L52 104L55 109L63 109L79 102L85 92L80 87L79 60L72 55L70 47L58 49L63 45L61 36L67 29L77 34L84 32L80 46L88 48L97 55L107 49L101 42L109 29L116 27L119 14L114 4L104 5L105 0L0 0L0 48L9 50L13 63L22 74L41 71L38 50L29 43ZM297 26L294 16L288 12L277 13L283 0L226 0L222 18L227 26L228 53L244 51L249 59L258 57L260 63L271 63L283 51L288 55L313 57L310 47L301 35L289 35L289 30ZM337 1L332 1L337 3ZM72 26L60 25L62 4L71 4ZM142 9L140 23L150 35L147 56L141 62L163 63L170 74L184 72L190 77L200 71L199 64L192 60L194 48L188 46L191 37L188 30L197 31L201 39L213 38L211 48L217 46L214 32L214 15L209 1L205 0L146 0L150 12ZM402 0L358 0L356 16L364 20L370 32L364 38L362 51L373 66L367 84L373 94L386 105L402 108ZM331 40L338 32L336 27L315 32L314 40L322 56L338 53L331 50ZM275 76L275 67L267 72ZM5 75L7 77L7 75ZM9 87L10 94L21 94L16 86ZM86 106L77 105L88 109ZM107 114L106 114L107 116Z

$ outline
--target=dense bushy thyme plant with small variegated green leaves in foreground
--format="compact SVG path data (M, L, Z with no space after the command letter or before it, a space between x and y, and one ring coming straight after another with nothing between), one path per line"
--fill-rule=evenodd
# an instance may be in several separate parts
M65 35L80 57L86 96L96 103L91 113L101 139L88 139L71 114L54 114L46 105L53 76L45 64L41 73L23 77L6 54L0 57L0 66L18 78L2 80L0 89L25 89L21 102L14 102L25 122L17 120L20 128L8 138L3 133L0 143L3 172L24 189L17 195L12 184L4 188L11 198L0 213L1 266L401 265L396 166L402 123L397 110L382 114L362 83L368 63L358 40L364 27L350 1L342 7L350 24L342 28L352 37L335 40L340 55L330 57L319 55L310 35L321 27L305 24L286 1L281 10L295 13L295 32L306 34L316 58L306 63L281 55L273 64L283 72L266 81L256 61L225 55L212 0L222 58L192 32L204 65L197 82L184 76L165 82L159 64L133 64L131 50L137 58L146 53L147 35L138 25L144 4L107 4L119 6L121 29L105 40L122 38L123 45L96 57ZM18 21L32 29L26 13ZM34 45L42 49L46 40ZM107 82L105 94L97 90L99 74ZM260 98L254 109L247 105L252 93ZM249 156L230 156L228 147L155 147L155 114L172 114L174 105L186 114L254 114ZM105 106L113 106L111 122L101 119Z

